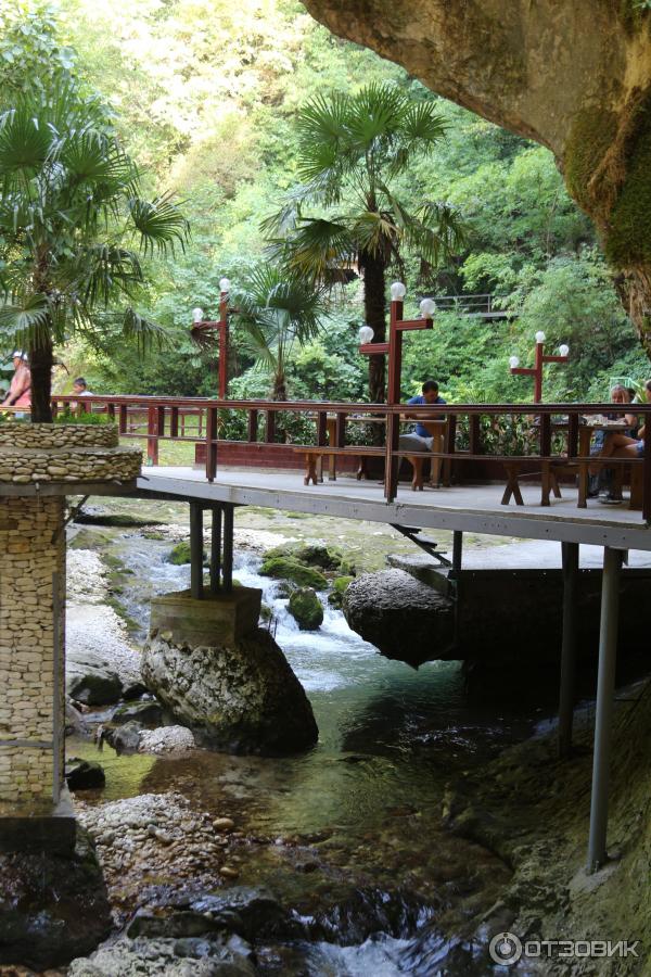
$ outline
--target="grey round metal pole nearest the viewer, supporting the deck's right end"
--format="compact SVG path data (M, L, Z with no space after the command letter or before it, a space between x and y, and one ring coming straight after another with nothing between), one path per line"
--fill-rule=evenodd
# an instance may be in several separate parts
M617 660L621 569L622 553L604 546L588 873L596 872L607 860L609 761Z

